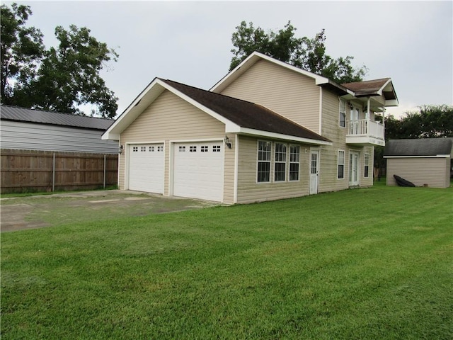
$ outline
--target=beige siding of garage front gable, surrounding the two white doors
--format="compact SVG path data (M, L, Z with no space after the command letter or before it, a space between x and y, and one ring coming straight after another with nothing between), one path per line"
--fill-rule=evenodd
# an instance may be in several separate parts
M222 140L225 136L225 125L219 120L212 118L207 113L183 101L183 99L164 91L159 98L151 103L139 117L121 134L121 145L127 143L165 143L165 183L164 195L169 194L169 174L171 142L190 141L190 140ZM127 149L125 147L125 149ZM234 154L233 149L226 149L227 159L231 159L229 154ZM126 152L122 152L120 157L120 179L119 186L125 189L125 161ZM233 156L234 159L234 156ZM225 162L225 169L231 171L233 166ZM231 177L225 171L226 177ZM226 191L229 195L228 191Z

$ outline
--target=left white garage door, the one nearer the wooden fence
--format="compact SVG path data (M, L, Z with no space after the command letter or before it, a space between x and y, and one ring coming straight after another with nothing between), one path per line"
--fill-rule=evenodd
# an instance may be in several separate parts
M130 145L129 189L164 193L164 144Z

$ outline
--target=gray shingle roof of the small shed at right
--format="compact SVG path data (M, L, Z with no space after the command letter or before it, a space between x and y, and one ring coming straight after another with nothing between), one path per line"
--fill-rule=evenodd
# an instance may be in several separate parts
M453 138L425 138L413 140L389 140L384 157L423 157L451 154Z

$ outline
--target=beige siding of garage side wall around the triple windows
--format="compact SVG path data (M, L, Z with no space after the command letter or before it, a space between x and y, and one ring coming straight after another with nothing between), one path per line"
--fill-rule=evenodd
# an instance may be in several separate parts
M230 139L231 140L231 139ZM265 140L265 139L262 139ZM270 140L268 140L270 141ZM274 142L274 141L273 141ZM239 136L239 174L237 203L253 203L265 200L278 200L309 194L309 147L300 146L299 181L275 183L257 183L257 147L258 139ZM305 152L305 149L307 152ZM289 151L288 151L289 152ZM271 178L273 179L274 147L270 164ZM288 164L288 163L287 163ZM288 165L287 165L288 169Z

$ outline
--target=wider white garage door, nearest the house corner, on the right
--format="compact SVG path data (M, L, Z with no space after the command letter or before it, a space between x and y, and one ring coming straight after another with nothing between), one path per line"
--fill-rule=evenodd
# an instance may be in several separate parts
M173 195L222 202L222 142L175 143Z

